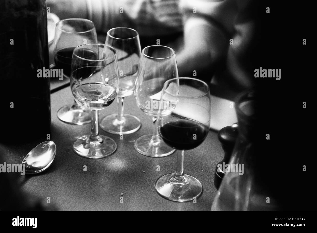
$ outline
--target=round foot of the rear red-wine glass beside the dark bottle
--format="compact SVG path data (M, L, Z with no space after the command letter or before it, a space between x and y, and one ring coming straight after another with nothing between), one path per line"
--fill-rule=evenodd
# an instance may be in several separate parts
M57 111L57 117L62 122L74 125L83 125L90 123L91 111L86 110L80 106L68 104L61 107Z

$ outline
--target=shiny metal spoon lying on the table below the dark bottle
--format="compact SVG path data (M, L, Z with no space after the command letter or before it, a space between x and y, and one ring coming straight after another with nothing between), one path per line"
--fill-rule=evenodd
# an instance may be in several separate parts
M54 142L41 142L23 159L22 164L25 164L25 173L36 174L44 171L53 162L55 154L56 145Z

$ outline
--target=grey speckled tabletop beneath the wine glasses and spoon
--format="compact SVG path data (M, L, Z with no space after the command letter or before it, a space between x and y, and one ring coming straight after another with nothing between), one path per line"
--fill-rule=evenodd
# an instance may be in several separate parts
M50 140L57 147L51 166L38 175L28 176L23 190L50 202L61 211L210 211L217 192L214 186L214 169L223 158L217 132L209 131L205 141L197 148L185 151L184 171L196 177L203 185L203 193L197 202L178 203L159 196L154 189L155 181L162 175L174 172L176 153L152 158L139 154L133 142L141 135L152 133L152 120L138 109L134 96L125 98L125 113L138 116L141 128L130 135L108 134L99 127L101 135L107 135L117 143L117 151L106 158L92 160L76 155L72 150L74 141L90 132L90 125L71 125L61 122L57 110L72 103L69 87L51 94ZM117 112L117 104L99 113L103 116ZM7 163L21 163L23 157L39 142L19 147L5 146ZM87 166L87 171L84 171ZM159 171L157 171L159 166ZM123 195L121 195L123 194ZM123 197L123 203L120 202ZM122 198L121 198L122 199Z

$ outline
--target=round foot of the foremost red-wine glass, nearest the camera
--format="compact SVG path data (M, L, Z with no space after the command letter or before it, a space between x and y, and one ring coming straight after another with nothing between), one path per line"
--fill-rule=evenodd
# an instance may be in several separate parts
M182 180L174 178L175 173L161 176L155 183L155 190L160 196L171 201L191 201L200 196L203 186L198 179L184 174Z

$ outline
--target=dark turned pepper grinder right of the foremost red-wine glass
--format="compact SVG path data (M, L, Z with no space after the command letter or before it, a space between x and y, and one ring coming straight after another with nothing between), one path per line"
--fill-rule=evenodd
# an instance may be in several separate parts
M217 189L219 188L225 174L224 172L225 167L223 166L223 164L229 163L233 148L236 143L237 136L238 136L238 123L234 123L231 126L226 126L220 129L218 132L218 139L222 144L222 148L224 150L224 157L223 157L223 160L218 163L218 164L221 164L221 166L218 167L218 164L217 164L215 169L214 184Z

